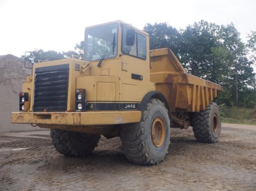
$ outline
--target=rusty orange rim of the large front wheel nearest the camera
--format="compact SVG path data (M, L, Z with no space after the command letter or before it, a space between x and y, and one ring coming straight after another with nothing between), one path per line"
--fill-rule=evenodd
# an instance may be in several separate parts
M165 125L161 117L156 117L152 123L151 139L156 147L161 147L165 140Z

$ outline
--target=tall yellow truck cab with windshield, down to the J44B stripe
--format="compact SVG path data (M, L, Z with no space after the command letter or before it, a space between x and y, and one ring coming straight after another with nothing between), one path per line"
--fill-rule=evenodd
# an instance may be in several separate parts
M155 90L148 42L146 32L121 21L86 29L84 60L90 69L77 79L77 88L88 90L87 110L139 109L143 97Z

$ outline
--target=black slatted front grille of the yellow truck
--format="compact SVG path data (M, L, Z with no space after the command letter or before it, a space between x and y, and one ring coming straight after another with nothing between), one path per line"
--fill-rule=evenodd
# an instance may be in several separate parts
M35 69L34 112L66 111L69 64Z

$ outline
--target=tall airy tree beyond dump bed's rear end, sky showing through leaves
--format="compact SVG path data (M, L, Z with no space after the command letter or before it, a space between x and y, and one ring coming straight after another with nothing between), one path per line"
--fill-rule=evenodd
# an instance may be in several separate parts
M229 63L229 87L233 89L232 95L236 106L239 106L244 98L241 92L246 91L253 77L252 62L248 60L245 44L232 23L227 26L222 25L219 40L220 46L227 50L225 60Z

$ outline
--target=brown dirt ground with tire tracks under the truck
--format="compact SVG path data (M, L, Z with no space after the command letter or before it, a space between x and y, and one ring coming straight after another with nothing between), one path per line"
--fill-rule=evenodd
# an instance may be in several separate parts
M125 158L119 138L101 138L87 157L57 153L49 131L0 134L0 191L256 191L256 126L222 124L216 144L172 129L158 166Z

